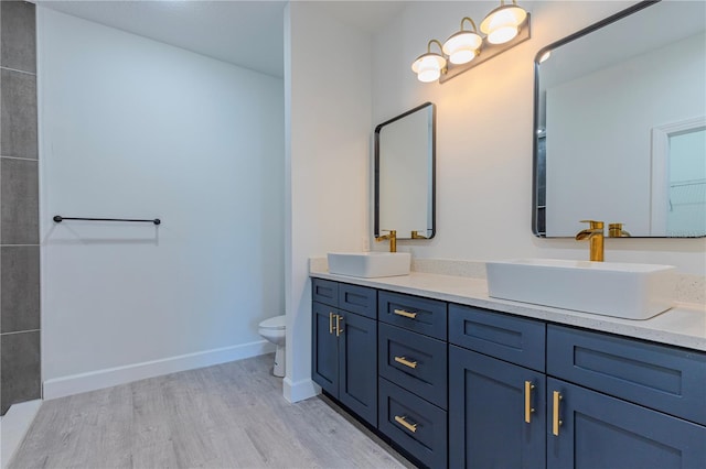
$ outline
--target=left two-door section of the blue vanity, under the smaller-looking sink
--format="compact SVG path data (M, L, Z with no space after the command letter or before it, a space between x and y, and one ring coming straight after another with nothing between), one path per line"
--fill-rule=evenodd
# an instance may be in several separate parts
M312 303L312 380L376 427L377 292L329 281L324 290L319 282L312 281L313 297L323 291L324 301L335 305Z

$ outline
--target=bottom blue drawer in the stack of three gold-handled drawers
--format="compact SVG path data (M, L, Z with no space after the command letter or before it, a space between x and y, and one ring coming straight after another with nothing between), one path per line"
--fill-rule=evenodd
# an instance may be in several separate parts
M378 429L431 468L447 467L447 413L379 380Z

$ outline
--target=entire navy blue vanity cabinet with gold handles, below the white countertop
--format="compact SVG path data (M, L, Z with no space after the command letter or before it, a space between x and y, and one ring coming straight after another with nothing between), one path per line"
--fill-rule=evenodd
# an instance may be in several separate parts
M416 462L706 469L703 351L312 282L313 380Z

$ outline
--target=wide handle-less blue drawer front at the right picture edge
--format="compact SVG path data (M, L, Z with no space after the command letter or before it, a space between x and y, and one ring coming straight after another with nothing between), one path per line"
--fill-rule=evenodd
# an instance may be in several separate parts
M547 374L706 425L706 353L547 327Z

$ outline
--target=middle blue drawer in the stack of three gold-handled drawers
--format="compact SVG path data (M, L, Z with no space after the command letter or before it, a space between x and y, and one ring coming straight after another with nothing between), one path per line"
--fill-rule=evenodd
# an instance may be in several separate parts
M379 323L378 372L439 407L447 408L447 345Z

